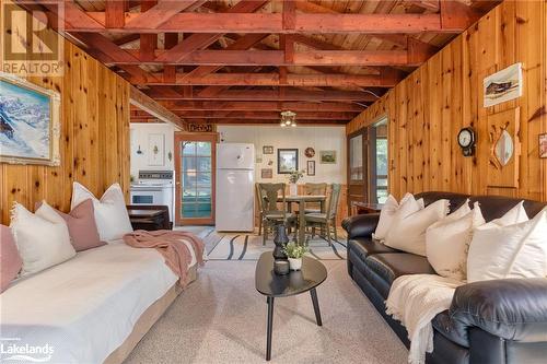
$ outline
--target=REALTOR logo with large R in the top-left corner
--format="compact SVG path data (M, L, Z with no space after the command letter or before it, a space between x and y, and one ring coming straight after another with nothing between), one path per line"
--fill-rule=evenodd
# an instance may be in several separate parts
M0 0L0 70L18 75L62 75L65 4L62 0L36 3Z

